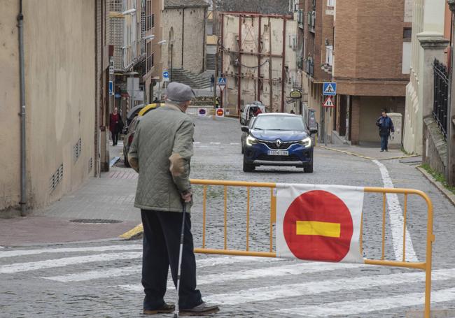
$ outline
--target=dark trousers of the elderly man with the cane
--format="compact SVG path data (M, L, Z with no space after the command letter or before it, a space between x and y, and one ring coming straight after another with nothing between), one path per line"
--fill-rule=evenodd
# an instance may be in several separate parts
M142 256L142 285L144 309L155 310L164 305L167 273L171 266L172 280L177 284L179 249L183 215L180 212L141 210L144 226L144 254ZM196 289L196 259L193 252L190 214L186 215L183 243L180 298L181 309L190 309L202 303Z

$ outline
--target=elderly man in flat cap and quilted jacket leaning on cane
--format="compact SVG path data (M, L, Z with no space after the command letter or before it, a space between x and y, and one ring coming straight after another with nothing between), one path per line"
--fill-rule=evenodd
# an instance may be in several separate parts
M172 82L167 87L165 106L142 118L128 154L139 173L134 206L141 209L144 226L142 285L144 314L173 312L165 303L167 273L177 283L182 202L191 205L190 158L193 156L194 124L186 109L195 96L188 85ZM188 208L189 210L189 208ZM196 261L191 220L185 222L185 241L180 282L180 315L207 315L218 306L202 301L196 289Z

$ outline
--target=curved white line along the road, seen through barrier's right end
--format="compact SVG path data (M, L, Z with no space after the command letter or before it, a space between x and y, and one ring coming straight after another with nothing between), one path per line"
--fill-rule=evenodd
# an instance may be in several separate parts
M382 180L384 182L384 187L393 188L393 182L388 175L388 171L384 164L377 160L372 160L374 164L379 167L381 171ZM391 224L392 232L392 241L393 241L393 250L395 252L395 259L397 261L402 261L402 251L403 251L403 212L401 210L400 201L398 200L397 194L386 194L387 205L388 205L388 217ZM414 251L414 245L412 245L411 233L406 226L406 261L418 262L416 252Z

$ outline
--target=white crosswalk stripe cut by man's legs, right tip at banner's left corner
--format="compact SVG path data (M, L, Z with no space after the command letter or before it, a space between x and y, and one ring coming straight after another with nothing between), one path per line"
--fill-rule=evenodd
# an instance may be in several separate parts
M204 268L209 266L217 266L217 265L225 265L231 263L241 263L241 262L249 262L249 261L262 261L262 262L269 262L269 261L277 261L280 259L265 259L263 257L233 257L233 256L221 256L221 257L211 257L207 259L197 259L197 268ZM281 260L282 261L282 260ZM90 270L82 273L73 273L67 275L57 275L57 276L50 276L50 277L41 277L45 278L46 280L54 280L56 282L84 282L87 280L98 280L100 278L109 278L109 277L120 277L120 276L127 276L133 275L137 273L141 273L142 266L125 266L121 268L109 268L106 270ZM128 285L130 286L130 285ZM142 290L142 287L134 288L134 290Z

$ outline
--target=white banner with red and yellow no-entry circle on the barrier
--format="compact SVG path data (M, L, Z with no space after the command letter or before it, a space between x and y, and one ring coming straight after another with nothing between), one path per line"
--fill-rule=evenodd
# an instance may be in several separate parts
M363 187L276 185L276 256L363 263Z

